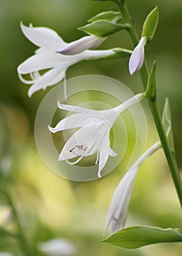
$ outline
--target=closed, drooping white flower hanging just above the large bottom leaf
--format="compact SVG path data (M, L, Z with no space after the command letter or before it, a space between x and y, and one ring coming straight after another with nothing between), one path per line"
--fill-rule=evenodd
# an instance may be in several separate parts
M107 214L107 221L105 224L104 234L112 223L110 233L114 233L122 228L126 223L126 217L129 209L129 201L132 195L132 188L134 185L134 178L137 175L140 165L145 159L151 156L156 150L161 148L161 143L157 142L148 151L136 161L134 165L127 170L124 177L121 179L118 187L115 189L113 198L110 203L110 208Z

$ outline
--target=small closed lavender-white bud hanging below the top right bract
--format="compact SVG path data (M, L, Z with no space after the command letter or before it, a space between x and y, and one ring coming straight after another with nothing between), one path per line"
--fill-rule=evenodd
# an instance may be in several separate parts
M147 37L142 37L138 45L134 48L132 56L129 59L129 72L132 75L134 72L140 70L143 66L145 45L147 43Z

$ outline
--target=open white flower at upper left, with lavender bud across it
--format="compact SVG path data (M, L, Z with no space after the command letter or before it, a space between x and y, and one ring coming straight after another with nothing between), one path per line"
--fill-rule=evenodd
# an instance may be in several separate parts
M40 89L46 89L64 79L67 69L79 61L110 56L113 50L87 50L96 48L104 38L87 36L67 44L56 31L44 27L24 26L23 34L39 47L35 55L18 66L18 76L23 83L32 85L29 97ZM64 53L64 54L63 54ZM74 55L71 55L74 54ZM40 71L46 70L43 74ZM30 75L30 80L23 75Z

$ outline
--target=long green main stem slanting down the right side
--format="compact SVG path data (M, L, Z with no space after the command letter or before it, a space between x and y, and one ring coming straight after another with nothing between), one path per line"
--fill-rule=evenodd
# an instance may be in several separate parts
M123 3L122 1L118 4L118 7L121 10L121 14L123 15L124 21L131 26L131 28L129 29L129 36L132 41L133 47L135 47L139 40L137 37L137 33L134 30L134 27L132 26L132 19L129 15L129 11L126 7L126 4ZM144 61L143 67L140 69L140 76L141 76L141 79L143 82L143 87L144 87L144 89L146 89L147 83L148 83L148 68L147 68L146 61ZM181 182L181 177L180 177L179 170L178 170L178 165L176 163L176 159L175 159L174 155L170 151L167 137L165 135L165 132L164 132L164 129L162 126L162 120L159 116L159 110L157 108L156 101L153 101L153 99L148 98L148 103L151 108L151 113L153 115L153 120L156 124L156 129L159 134L159 138L161 140L162 147L164 149L165 157L166 157L168 165L170 167L170 172L171 172L174 184L175 184L175 189L178 193L178 197L179 197L179 200L180 200L180 203L182 206L182 182Z

